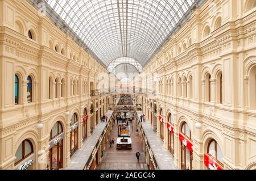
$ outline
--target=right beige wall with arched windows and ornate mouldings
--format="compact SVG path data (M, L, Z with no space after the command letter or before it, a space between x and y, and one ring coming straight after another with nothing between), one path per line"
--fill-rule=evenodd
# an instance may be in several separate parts
M247 5L248 1L207 1L143 69L143 73L152 73L158 78L156 104L158 111L160 107L164 111L166 149L167 116L177 112L174 164L179 168L178 134L185 121L192 132L193 169L206 169L204 154L211 138L221 146L224 169L255 169L256 9L246 11ZM221 27L217 28L218 18L221 18ZM210 34L204 37L207 26ZM150 99L149 103L147 100L146 97L143 108L148 116L150 102L155 100ZM200 129L195 128L197 120L203 124ZM159 128L158 120L158 135Z

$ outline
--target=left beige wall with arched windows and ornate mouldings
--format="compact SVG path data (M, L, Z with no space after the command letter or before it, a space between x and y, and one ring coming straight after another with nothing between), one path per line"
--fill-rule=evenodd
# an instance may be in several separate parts
M100 96L91 98L89 88L90 82L94 82L94 88L97 87L100 82L98 73L108 72L46 16L40 18L38 11L27 1L0 1L0 12L0 169L14 169L15 152L26 138L34 148L33 169L46 169L49 133L56 121L60 121L64 128L65 167L70 162L69 128L73 113L77 113L79 119L78 147L81 148L84 108L89 115L88 136L90 127L94 128L96 124L96 116L93 116L96 111L99 119L100 109L102 114L108 110L108 96L102 95L100 104ZM28 30L31 30L34 40L28 38ZM55 46L59 52L55 51ZM19 77L18 105L14 100L15 74ZM28 75L32 78L32 103L27 103ZM75 92L72 86L75 86ZM90 115L91 101L94 112ZM65 112L70 114L67 116ZM90 125L91 116L94 125ZM43 129L36 128L40 121ZM43 150L46 151L46 164L39 163L44 159Z

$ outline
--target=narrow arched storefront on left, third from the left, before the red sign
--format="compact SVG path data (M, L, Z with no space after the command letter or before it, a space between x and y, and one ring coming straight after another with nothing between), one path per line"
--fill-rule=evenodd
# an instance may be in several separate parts
M70 132L70 153L71 157L78 149L78 127L79 122L77 119L77 114L74 113L71 118L71 132Z

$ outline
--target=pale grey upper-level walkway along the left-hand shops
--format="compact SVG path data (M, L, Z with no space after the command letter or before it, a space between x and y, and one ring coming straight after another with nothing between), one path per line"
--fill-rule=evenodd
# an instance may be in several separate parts
M112 115L113 111L108 111L106 115L108 119ZM90 154L92 153L94 146L97 144L98 139L101 136L104 128L106 127L105 122L100 122L97 124L96 128L94 129L93 133L85 139L83 142L82 148L77 150L75 154L71 157L71 162L67 167L63 170L83 170L86 162L88 161Z

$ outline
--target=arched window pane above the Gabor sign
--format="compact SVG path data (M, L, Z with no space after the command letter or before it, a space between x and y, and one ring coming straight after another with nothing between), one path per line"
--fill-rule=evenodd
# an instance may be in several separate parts
M30 140L24 140L22 143L19 145L18 149L16 150L15 153L15 164L17 165L18 163L22 162L24 159L29 157L33 153L33 145Z

